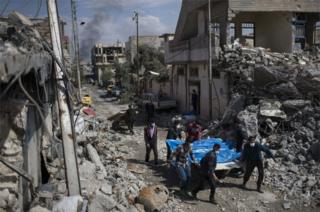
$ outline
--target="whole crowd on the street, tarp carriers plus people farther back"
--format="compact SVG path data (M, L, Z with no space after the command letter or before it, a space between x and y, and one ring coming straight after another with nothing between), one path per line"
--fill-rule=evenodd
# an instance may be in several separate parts
M129 107L128 113L131 113L132 107ZM145 162L149 162L151 151L154 154L154 164L159 164L158 159L158 128L153 119L154 108L151 105L146 105L147 112L147 125L144 128L144 140L146 147ZM131 121L133 119L130 119ZM133 121L132 121L133 122ZM129 130L133 133L133 123L130 122ZM168 129L167 140L182 140L183 126L179 120L173 120L172 126ZM223 140L233 140L236 142L236 151L241 152L240 161L243 166L243 188L246 189L246 184L252 175L253 170L258 169L257 191L263 193L261 185L264 177L263 157L261 152L265 152L267 156L274 159L271 151L260 144L257 136L251 136L244 139L241 136L239 130L234 129L233 126L223 125L222 130L219 131L217 137ZM204 184L207 183L210 186L209 201L216 204L215 191L217 185L220 183L219 178L216 175L217 158L220 151L220 144L214 144L211 151L207 152L205 156L200 160L200 163L196 163L194 154L192 152L192 143L202 138L202 127L196 121L192 121L186 126L185 141L172 152L171 148L167 144L167 164L170 164L177 172L180 180L180 189L183 195L197 198L197 193L204 188ZM244 142L246 141L246 142ZM197 176L193 176L193 167L199 169ZM196 177L196 185L190 185L191 177ZM191 188L192 187L192 188Z

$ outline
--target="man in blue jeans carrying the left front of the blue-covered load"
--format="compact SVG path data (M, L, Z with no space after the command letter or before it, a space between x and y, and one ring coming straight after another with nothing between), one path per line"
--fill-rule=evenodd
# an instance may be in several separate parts
M176 158L175 168L179 174L181 192L184 195L188 195L188 185L191 178L189 158L194 161L190 138L187 138L185 143L178 146L176 151L171 155L170 160L172 160L173 157Z

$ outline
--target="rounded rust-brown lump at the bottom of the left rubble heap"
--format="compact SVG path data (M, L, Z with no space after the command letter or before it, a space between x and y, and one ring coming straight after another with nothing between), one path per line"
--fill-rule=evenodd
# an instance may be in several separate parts
M161 211L168 198L168 188L163 185L156 185L141 189L138 203L144 205L146 211Z

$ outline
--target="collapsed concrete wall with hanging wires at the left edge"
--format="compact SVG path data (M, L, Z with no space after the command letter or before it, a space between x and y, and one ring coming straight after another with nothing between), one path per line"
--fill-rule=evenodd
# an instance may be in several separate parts
M0 211L23 210L48 180L37 107L50 123L52 58L21 30L13 19L0 22Z

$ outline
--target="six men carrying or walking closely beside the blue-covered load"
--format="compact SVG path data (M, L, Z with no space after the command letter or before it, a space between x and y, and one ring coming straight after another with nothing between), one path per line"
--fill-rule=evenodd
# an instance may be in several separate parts
M150 151L153 150L155 164L158 164L156 133L157 127L154 122L151 122L151 124L145 128L146 162L149 162ZM182 139L182 129L178 122L174 123L174 125L169 128L167 139ZM216 176L216 166L217 157L221 146L219 144L215 144L213 149L207 152L206 155L201 159L200 163L196 164L191 144L199 139L201 139L201 126L195 122L192 122L187 126L186 140L184 143L178 146L174 152L171 152L169 146L167 145L167 162L168 164L174 164L173 166L179 175L180 189L183 195L191 195L192 197L197 198L197 193L203 189L205 183L207 183L210 186L209 200L213 204L216 204L215 191L217 184L220 182ZM263 193L261 190L261 185L263 182L264 167L261 152L265 152L269 157L274 159L273 154L267 147L260 144L257 136L249 137L248 141L242 145L241 149L242 154L240 161L245 163L242 186L243 188L246 188L246 184L249 181L254 168L257 167L259 173L257 191ZM197 176L197 183L193 186L190 194L189 187L192 176L192 164L195 164L195 166L200 169L200 174Z

